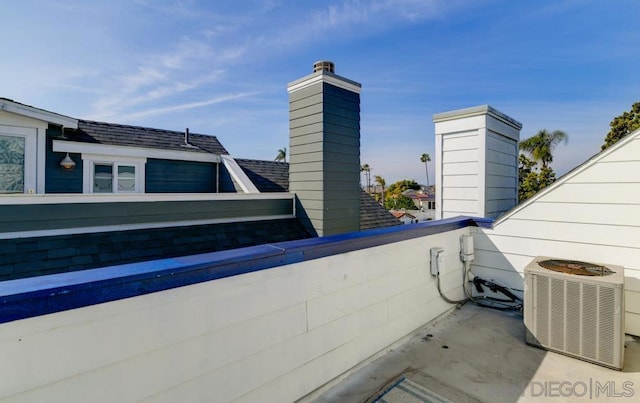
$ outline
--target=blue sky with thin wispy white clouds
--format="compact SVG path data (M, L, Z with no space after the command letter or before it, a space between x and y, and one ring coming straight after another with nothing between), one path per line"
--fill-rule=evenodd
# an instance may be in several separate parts
M361 162L425 182L435 113L490 104L563 130L562 174L640 101L635 0L4 2L0 97L64 115L288 147L287 84L316 60L360 82ZM433 182L433 162L430 167Z

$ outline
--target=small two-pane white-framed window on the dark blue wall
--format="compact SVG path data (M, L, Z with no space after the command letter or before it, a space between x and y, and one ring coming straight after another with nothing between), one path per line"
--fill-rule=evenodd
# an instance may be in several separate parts
M83 155L84 193L144 193L144 162Z

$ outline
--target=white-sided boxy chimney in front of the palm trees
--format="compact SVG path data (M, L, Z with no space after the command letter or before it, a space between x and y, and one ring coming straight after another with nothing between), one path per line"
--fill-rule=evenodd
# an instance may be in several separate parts
M433 115L436 219L496 218L518 204L522 123L489 105Z

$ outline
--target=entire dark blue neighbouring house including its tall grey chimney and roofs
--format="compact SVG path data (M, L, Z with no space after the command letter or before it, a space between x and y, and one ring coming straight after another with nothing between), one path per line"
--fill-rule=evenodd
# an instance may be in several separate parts
M316 71L290 85L292 121L318 128L292 131L291 164L0 98L0 281L398 225L359 187L356 84Z

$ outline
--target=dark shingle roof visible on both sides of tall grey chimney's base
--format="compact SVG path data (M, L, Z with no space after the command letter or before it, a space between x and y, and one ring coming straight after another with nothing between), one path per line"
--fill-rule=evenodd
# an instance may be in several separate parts
M236 162L261 192L289 191L289 163L245 159L236 159ZM360 230L400 224L373 197L360 191Z

